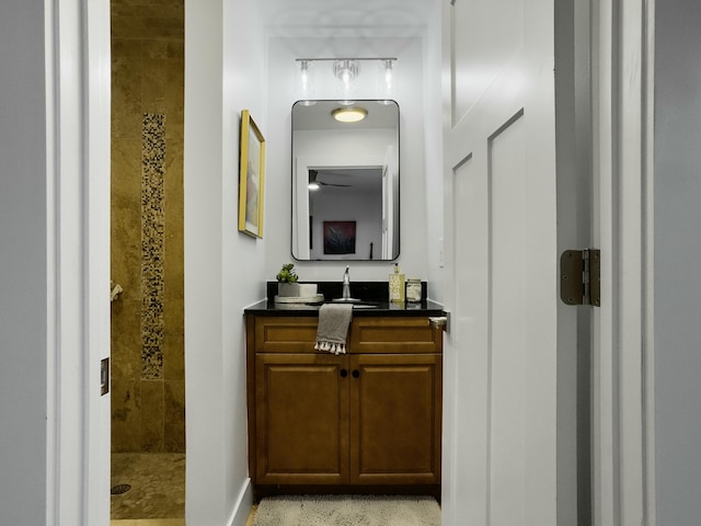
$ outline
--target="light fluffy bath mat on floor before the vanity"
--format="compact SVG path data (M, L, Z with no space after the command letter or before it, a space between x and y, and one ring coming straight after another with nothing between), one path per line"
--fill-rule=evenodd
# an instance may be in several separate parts
M440 506L430 496L271 496L253 526L440 526Z

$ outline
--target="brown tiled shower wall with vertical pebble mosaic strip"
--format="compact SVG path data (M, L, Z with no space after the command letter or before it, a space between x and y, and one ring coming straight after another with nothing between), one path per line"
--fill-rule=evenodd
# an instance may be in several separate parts
M112 450L185 451L184 0L112 0Z

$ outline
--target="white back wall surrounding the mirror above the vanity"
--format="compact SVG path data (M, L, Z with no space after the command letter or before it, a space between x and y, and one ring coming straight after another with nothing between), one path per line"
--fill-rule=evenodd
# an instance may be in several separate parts
M268 42L267 129L267 182L266 224L267 256L266 277L274 279L283 263L292 261L290 255L290 192L291 192L291 107L297 100L296 58L301 57L398 57L395 100L400 107L400 193L401 193L401 250L399 263L407 277L427 279L429 224L440 224L441 217L427 217L425 178L428 172L440 179L440 164L427 170L425 163L424 122L424 56L422 37L285 37L273 36ZM317 62L315 68L323 68ZM363 66L363 65L361 65ZM331 68L330 65L327 65ZM368 67L368 70L370 67ZM375 67L372 67L375 69ZM320 75L319 71L315 73ZM363 72L360 78L363 78ZM365 73L368 78L374 71ZM433 82L439 84L439 79ZM359 85L358 99L376 99L376 83ZM333 85L323 84L315 91L317 99L338 96ZM438 119L439 121L439 119ZM430 132L428 132L430 134ZM440 136L440 127L433 132ZM438 195L440 198L440 194ZM433 207L435 210L436 208ZM433 249L433 247L432 247ZM350 265L353 281L383 281L392 272L391 262L354 262ZM296 262L302 281L341 281L345 263ZM432 275L434 275L432 273ZM428 284L432 295L433 284Z

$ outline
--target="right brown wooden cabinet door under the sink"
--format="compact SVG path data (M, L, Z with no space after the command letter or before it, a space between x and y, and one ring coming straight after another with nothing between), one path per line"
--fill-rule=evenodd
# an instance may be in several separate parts
M350 482L440 482L441 355L350 357Z

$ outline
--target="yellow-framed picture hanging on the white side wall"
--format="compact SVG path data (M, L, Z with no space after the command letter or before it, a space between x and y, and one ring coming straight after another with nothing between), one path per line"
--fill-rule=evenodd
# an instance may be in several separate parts
M241 112L240 151L239 230L262 238L265 139L248 110Z

